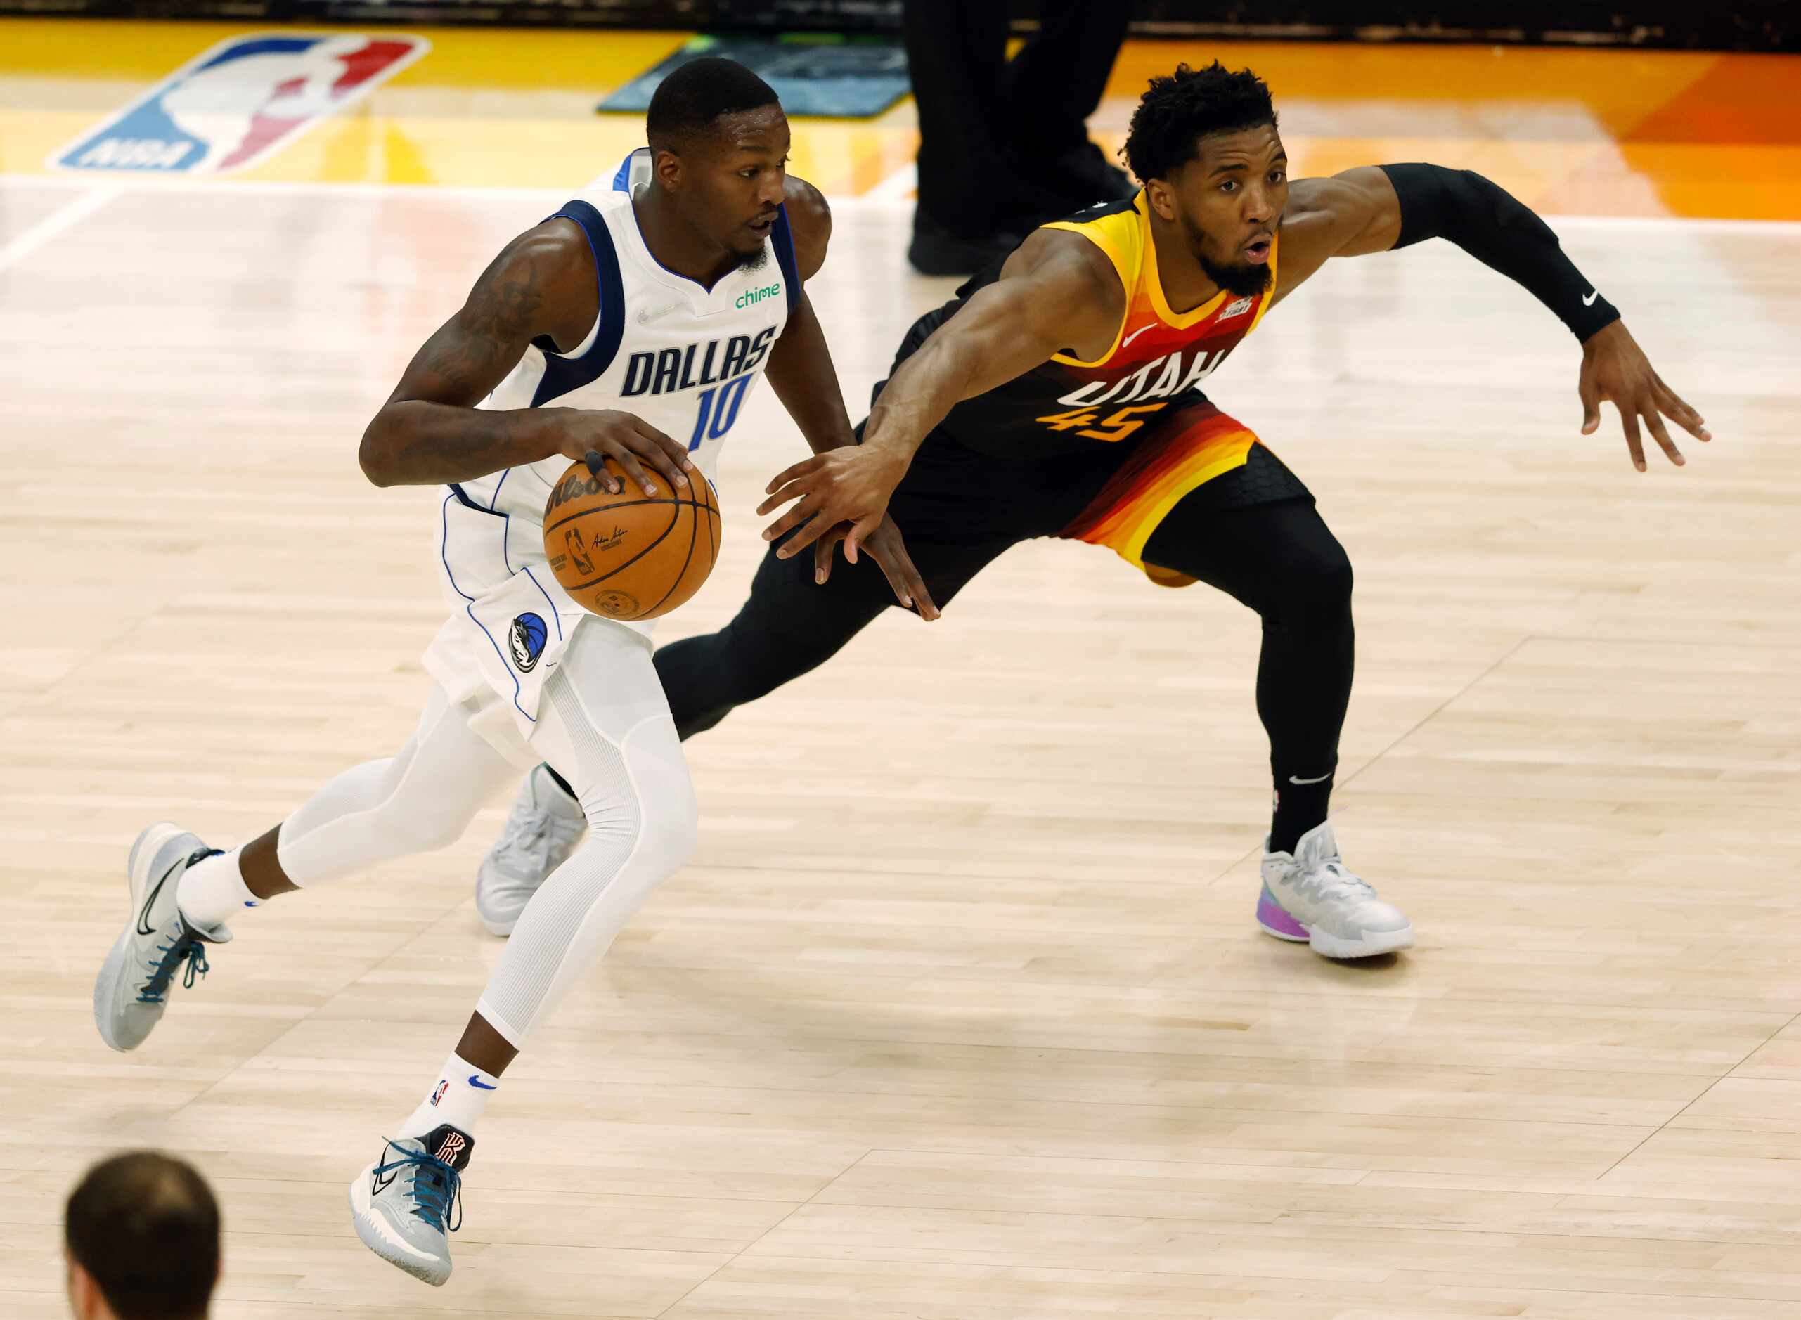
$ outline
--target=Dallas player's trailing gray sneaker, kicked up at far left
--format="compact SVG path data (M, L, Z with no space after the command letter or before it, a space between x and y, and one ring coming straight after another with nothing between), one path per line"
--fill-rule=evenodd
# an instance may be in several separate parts
M191 990L209 971L205 945L231 940L223 926L189 926L175 904L182 872L216 852L169 823L151 825L131 845L131 920L94 980L94 1025L113 1050L140 1046L169 1007L175 974Z

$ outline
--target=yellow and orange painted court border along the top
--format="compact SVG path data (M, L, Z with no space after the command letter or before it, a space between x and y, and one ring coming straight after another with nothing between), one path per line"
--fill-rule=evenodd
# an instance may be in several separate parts
M47 171L146 86L252 31L0 20L0 173ZM690 36L403 31L430 54L238 176L575 187L643 137L638 115L594 104ZM1297 173L1417 158L1479 169L1552 214L1801 218L1801 119L1781 110L1794 95L1781 56L1129 41L1097 139L1124 140L1151 74L1212 58L1270 81ZM832 196L859 196L904 184L917 142L910 101L870 121L796 121L792 169Z

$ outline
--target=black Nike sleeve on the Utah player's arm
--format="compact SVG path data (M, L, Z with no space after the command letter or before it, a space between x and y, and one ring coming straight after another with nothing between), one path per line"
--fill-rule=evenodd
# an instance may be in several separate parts
M1401 200L1401 238L1396 247L1448 238L1482 265L1524 285L1581 340L1619 321L1619 310L1563 256L1551 225L1506 189L1470 169L1381 169Z

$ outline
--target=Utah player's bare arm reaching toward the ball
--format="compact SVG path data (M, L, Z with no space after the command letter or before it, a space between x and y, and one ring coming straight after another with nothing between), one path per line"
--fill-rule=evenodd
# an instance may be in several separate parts
M1126 313L1126 290L1108 258L1064 231L1037 231L1007 259L1001 277L978 290L882 389L863 443L796 463L769 483L756 510L794 506L764 529L798 555L821 533L850 524L845 558L881 524L913 454L962 400L1007 384L1052 355L1108 351ZM803 526L805 524L805 526Z

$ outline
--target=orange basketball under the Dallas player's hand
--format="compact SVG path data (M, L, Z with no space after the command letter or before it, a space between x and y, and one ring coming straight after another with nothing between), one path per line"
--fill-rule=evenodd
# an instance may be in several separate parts
M587 463L571 463L544 502L544 555L557 582L607 619L654 619L686 601L719 558L719 501L693 474L672 492L647 466L654 493L607 459L623 490L614 495Z

